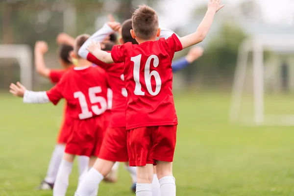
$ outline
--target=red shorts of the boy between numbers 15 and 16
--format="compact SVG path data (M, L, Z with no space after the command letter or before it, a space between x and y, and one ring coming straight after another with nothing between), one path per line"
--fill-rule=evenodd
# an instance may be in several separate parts
M125 127L108 128L98 158L113 162L127 162L127 131Z

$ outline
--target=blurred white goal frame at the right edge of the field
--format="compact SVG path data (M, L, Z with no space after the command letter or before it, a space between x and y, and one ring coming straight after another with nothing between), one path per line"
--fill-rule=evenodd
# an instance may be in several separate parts
M229 119L232 123L240 122L240 108L245 86L248 54L252 51L253 71L253 122L242 121L251 125L294 125L294 116L266 116L264 114L264 50L294 50L293 35L257 35L245 40L239 48L237 66L232 89ZM252 115L251 115L252 116ZM248 118L250 119L250 118Z

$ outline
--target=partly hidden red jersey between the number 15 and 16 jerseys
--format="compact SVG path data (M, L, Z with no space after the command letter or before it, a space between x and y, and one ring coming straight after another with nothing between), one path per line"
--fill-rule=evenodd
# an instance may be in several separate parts
M113 92L110 127L125 126L126 90L123 79L123 63L106 64L99 61L93 54L88 53L87 60L98 65L108 74L109 86Z

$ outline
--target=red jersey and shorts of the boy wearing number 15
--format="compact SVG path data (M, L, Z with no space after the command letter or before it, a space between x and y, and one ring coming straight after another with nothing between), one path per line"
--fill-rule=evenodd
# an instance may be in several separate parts
M87 80L85 80L87 78ZM83 81L83 82L80 82ZM99 67L76 67L67 71L49 91L49 100L56 105L67 101L66 114L71 119L65 132L70 132L65 152L98 156L107 127L108 78Z

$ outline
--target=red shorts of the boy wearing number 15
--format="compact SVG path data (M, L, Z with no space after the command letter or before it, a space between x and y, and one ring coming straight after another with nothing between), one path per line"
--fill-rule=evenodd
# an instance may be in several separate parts
M98 156L105 132L103 114L85 120L73 119L65 152L80 156Z

